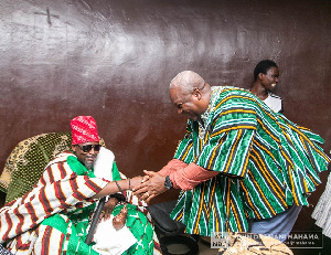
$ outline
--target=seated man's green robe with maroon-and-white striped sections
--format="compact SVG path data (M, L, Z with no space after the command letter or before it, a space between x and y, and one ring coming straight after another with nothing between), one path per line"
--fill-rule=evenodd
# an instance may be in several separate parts
M113 180L120 180L115 161ZM94 243L87 245L84 242L88 217L96 202L89 198L108 182L95 178L94 172L87 170L71 151L60 153L47 164L30 192L1 209L0 243L6 242L13 254L98 254L92 248ZM137 206L127 206L127 226L140 242L125 254L152 254L151 224ZM113 214L119 211L117 206Z

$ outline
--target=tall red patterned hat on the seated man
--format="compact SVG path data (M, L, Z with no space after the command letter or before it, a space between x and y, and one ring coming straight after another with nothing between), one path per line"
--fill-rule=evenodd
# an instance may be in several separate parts
M96 121L92 116L77 116L71 121L73 141L72 145L88 141L99 141Z

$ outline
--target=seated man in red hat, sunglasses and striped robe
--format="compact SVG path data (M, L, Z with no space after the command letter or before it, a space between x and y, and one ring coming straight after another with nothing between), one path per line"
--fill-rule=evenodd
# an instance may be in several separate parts
M71 127L72 150L49 162L30 192L1 209L1 244L13 254L158 254L146 214L132 204L117 205L142 178L120 178L113 152L99 145L93 117L78 116ZM97 166L107 174L97 174ZM114 195L119 192L124 195ZM104 196L95 238L86 244L89 220ZM126 224L121 229L118 219Z

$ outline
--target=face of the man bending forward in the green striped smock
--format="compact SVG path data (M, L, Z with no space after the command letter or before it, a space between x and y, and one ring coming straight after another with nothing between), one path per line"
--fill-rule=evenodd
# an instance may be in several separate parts
M178 114L186 115L193 121L196 121L207 109L207 105L204 105L201 100L201 92L199 89L189 95L183 94L181 88L172 88L169 93Z

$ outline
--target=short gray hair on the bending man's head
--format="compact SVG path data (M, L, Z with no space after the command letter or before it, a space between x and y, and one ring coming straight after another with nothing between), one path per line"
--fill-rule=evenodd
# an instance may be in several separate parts
M204 79L193 71L183 71L170 82L169 89L181 88L182 93L191 94L195 87L202 89Z

